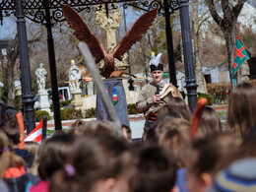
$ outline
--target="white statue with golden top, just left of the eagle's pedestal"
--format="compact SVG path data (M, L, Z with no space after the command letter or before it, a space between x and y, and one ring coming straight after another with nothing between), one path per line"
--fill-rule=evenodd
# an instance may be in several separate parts
M71 60L71 67L69 68L69 87L71 92L79 92L81 73L80 68L76 66L75 60Z

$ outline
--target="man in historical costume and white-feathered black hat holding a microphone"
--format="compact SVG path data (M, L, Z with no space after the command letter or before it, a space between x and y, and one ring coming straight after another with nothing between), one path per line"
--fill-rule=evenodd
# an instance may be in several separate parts
M160 63L160 56L161 53L158 54L155 62L150 65L153 82L142 89L136 101L137 110L143 112L146 118L143 140L148 130L156 122L158 110L168 102L170 96L182 98L174 86L163 82L163 64Z

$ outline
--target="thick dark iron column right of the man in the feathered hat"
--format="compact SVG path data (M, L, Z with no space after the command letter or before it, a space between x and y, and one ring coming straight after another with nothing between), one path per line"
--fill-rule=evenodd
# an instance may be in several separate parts
M186 74L186 90L189 108L194 111L197 105L197 84L193 60L193 49L190 31L188 0L179 0L180 25L183 43L183 55Z

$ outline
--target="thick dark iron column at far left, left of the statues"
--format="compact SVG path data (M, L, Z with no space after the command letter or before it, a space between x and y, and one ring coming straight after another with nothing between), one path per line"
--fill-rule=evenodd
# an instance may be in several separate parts
M16 0L16 18L17 30L20 50L20 62L22 71L22 90L23 90L23 105L28 120L28 133L34 129L34 110L33 110L33 95L32 95L32 78L31 67L28 51L28 40L26 32L26 22L23 10L23 1Z

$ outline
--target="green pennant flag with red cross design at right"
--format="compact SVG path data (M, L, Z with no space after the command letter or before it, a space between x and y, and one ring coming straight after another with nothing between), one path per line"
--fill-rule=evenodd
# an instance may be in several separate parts
M237 84L237 72L242 64L251 57L251 53L248 51L246 46L242 41L236 36L236 45L235 45L235 54L233 57L233 66L232 66L232 85L233 88Z

